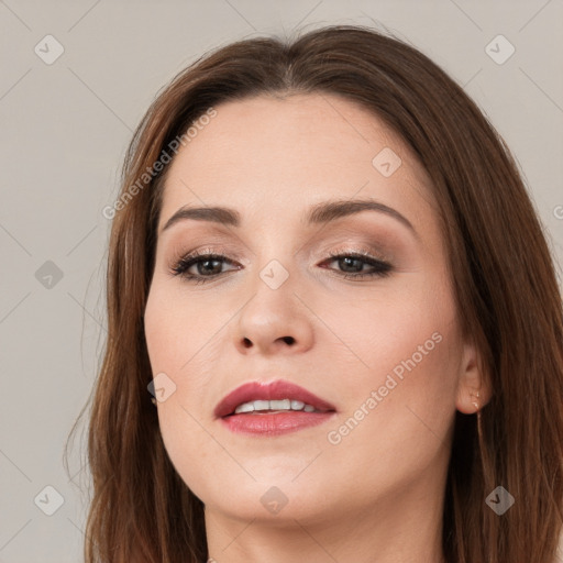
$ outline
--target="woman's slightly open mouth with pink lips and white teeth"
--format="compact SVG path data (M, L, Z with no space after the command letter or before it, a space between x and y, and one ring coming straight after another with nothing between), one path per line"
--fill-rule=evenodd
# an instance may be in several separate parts
M244 384L214 409L216 418L229 430L262 435L279 435L317 426L335 412L335 407L327 400L282 379Z

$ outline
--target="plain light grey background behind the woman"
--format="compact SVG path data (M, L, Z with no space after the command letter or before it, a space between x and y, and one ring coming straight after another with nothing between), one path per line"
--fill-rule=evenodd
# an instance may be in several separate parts
M563 263L563 0L0 0L0 562L81 561L85 423L70 479L63 448L106 336L101 210L156 92L211 47L374 20L441 65L489 117ZM51 65L34 51L55 53L47 34L64 47ZM504 64L486 51L498 34L516 48ZM62 496L58 508L46 486Z

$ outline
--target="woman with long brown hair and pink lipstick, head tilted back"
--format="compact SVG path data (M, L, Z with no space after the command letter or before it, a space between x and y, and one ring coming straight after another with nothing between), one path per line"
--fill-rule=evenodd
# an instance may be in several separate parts
M88 563L555 561L552 258L429 58L361 26L218 49L104 216Z

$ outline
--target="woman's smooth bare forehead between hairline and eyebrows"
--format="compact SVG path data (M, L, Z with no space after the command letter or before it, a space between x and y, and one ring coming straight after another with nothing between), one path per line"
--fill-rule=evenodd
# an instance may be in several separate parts
M258 96L214 109L168 165L161 225L186 203L289 212L357 195L408 212L405 199L429 199L430 180L411 150L350 100Z

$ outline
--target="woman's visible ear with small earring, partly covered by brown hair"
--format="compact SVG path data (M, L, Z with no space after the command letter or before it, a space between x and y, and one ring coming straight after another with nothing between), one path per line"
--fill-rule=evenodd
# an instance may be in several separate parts
M481 410L493 395L490 377L484 373L482 356L473 342L463 345L455 407L465 415Z

